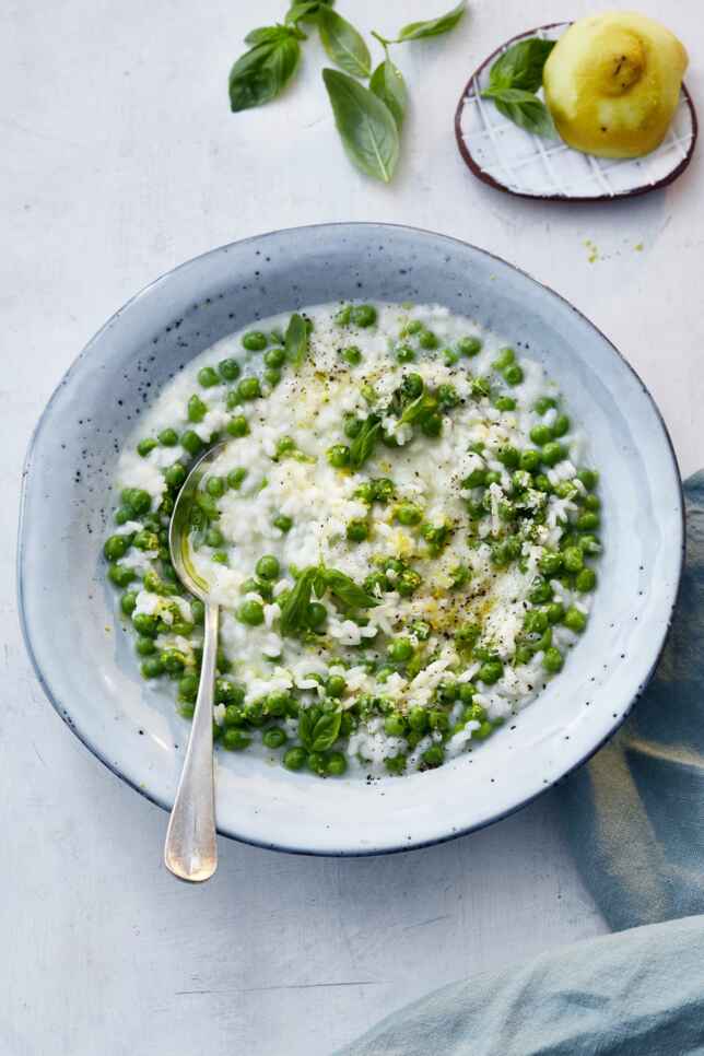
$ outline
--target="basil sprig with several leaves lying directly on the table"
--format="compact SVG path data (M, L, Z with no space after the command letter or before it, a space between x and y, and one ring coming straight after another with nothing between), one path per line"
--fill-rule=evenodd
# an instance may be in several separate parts
M467 0L435 19L409 23L392 39L374 32L385 52L374 71L364 37L333 10L333 2L293 0L284 25L261 26L247 35L250 49L237 59L230 74L231 107L244 110L279 95L295 73L300 42L306 39L298 23L314 23L322 47L339 68L324 70L322 80L347 154L367 176L388 183L398 164L408 105L403 74L389 57L389 45L448 33L465 14ZM361 81L368 81L368 86Z

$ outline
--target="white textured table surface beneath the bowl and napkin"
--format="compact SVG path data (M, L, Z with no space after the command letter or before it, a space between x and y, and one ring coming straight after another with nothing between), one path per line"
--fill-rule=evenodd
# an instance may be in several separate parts
M316 42L284 98L228 114L242 37L281 17L284 0L3 4L3 1056L322 1056L434 986L605 930L560 838L558 805L545 799L478 835L390 858L223 844L214 881L181 887L160 864L165 816L59 721L15 618L21 464L59 377L144 283L261 231L395 221L507 257L629 356L662 409L682 471L704 462L701 152L669 190L620 204L530 203L481 186L453 136L469 72L507 36L590 4L470 3L451 37L398 50L413 110L391 187L357 176L344 157ZM382 32L450 5L339 0L361 28ZM701 42L689 0L640 7L692 49ZM695 99L702 61L700 48L688 75Z

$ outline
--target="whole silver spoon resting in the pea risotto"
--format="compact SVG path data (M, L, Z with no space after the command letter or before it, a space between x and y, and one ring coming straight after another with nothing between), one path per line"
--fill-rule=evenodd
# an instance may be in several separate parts
M183 585L206 606L203 660L186 759L166 830L164 863L175 877L199 883L218 868L213 773L213 695L220 609L193 568L189 550L190 511L201 480L221 454L218 444L198 459L178 493L168 528L172 564Z

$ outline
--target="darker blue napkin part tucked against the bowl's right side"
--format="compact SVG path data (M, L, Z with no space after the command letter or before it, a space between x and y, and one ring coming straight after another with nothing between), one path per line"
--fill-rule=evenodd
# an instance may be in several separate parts
M617 930L704 913L704 472L684 498L687 561L655 678L615 737L553 794Z

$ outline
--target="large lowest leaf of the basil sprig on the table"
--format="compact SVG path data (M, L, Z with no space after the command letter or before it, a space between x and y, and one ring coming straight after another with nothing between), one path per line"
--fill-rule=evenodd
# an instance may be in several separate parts
M367 176L388 184L399 155L398 129L388 106L345 73L324 70L322 80L348 156Z

